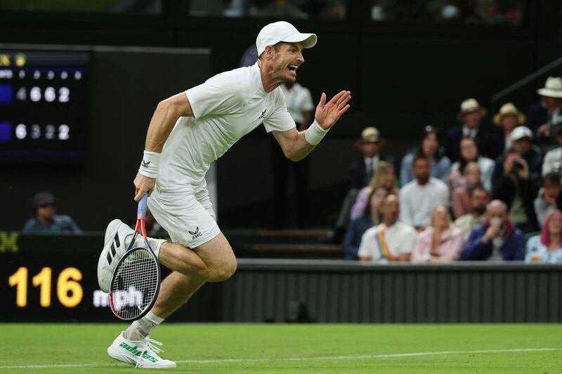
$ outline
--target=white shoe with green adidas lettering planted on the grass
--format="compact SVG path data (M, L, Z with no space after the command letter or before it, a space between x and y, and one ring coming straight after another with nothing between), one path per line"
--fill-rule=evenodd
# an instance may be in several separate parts
M161 359L158 354L164 352L157 347L162 345L161 342L148 338L143 340L127 340L124 331L119 334L117 339L113 340L112 345L107 348L107 354L113 359L129 363L136 368L175 368L176 363L170 360Z

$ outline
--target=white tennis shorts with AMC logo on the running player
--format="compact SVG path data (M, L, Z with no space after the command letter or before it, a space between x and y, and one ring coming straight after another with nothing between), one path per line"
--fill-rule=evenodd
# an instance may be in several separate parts
M156 185L148 198L148 208L172 241L189 248L207 243L221 231L204 181L174 189Z

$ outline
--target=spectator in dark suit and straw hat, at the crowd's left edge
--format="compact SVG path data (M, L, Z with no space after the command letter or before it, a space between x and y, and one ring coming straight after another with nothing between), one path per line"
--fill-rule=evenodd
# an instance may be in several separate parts
M348 190L344 201L341 203L338 218L334 231L329 237L332 243L341 243L344 239L347 226L350 221L351 207L357 200L360 189L367 186L379 167L379 161L384 160L394 163L391 156L384 156L380 153L384 146L384 140L381 139L377 128L367 127L361 132L361 138L355 142L362 156L351 164L351 186Z

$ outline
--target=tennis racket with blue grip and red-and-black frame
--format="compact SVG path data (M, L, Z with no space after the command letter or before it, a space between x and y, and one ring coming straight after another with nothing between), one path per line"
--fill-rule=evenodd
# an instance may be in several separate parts
M111 276L110 307L117 318L125 321L147 314L160 290L160 265L146 239L146 200L145 194L138 202L135 234ZM135 246L138 234L143 236L144 246Z

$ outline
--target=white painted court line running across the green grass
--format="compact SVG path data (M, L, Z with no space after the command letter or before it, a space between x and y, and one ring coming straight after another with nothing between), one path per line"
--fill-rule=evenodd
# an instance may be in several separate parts
M361 360L390 359L395 357L436 356L438 354L473 354L473 353L510 353L510 352L549 352L562 351L562 348L517 348L517 349L481 349L478 351L440 351L413 352L396 354L364 354L361 356L321 356L321 357L287 357L279 359L218 359L218 360L183 360L176 363L221 363L221 362L265 362L265 361L320 361L320 360ZM69 363L63 365L22 365L0 366L0 369L46 369L46 368L99 368L115 366L116 363Z

